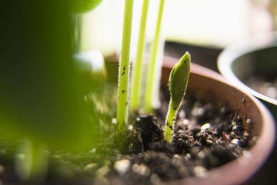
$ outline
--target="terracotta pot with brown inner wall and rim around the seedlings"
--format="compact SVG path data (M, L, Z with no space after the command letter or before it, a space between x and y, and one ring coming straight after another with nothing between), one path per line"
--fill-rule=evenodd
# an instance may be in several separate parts
M177 59L165 57L163 60L161 84L166 87L170 70ZM172 184L242 184L251 178L265 163L271 153L275 141L275 123L268 109L256 98L246 91L238 89L226 82L219 73L192 64L188 89L201 91L207 95L206 100L214 103L225 102L240 116L251 118L253 121L253 134L259 136L255 146L249 150L249 155L242 155L228 164L210 170L206 177L188 177L177 180ZM243 124L246 124L243 119Z

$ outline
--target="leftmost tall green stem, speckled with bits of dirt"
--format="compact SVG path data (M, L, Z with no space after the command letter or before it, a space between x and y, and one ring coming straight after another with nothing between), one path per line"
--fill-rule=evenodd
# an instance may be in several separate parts
M129 62L132 33L132 16L134 0L125 0L123 35L118 69L118 104L117 104L117 131L125 134L125 123L128 116L128 90L129 90Z

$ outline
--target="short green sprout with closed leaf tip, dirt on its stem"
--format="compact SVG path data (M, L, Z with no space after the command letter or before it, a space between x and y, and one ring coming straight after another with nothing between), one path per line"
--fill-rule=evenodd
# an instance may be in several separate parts
M190 53L186 52L183 57L173 67L168 88L170 90L170 103L168 106L168 115L166 116L166 131L164 139L171 143L172 132L176 123L177 112L184 98L186 87L188 85L188 76L190 73Z

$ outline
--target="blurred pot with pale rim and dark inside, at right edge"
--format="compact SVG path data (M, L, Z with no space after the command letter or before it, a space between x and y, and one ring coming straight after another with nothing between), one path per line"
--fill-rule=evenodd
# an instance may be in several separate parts
M253 76L277 78L277 33L256 35L227 47L220 53L217 67L229 82L249 91L267 105L277 119L277 99L249 87L246 80Z

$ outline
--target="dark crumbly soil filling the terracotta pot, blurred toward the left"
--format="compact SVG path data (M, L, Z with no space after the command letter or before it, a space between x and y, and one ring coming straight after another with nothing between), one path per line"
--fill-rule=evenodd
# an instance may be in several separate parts
M224 103L217 106L186 95L172 143L168 143L163 140L168 100L162 99L156 118L149 114L133 118L136 121L127 126L125 141L116 143L118 139L111 136L80 155L51 152L48 175L44 182L35 184L159 184L204 177L208 170L247 155L256 141L257 137L251 136L250 119L245 118L244 127L242 118ZM3 183L21 184L12 165L2 167Z

